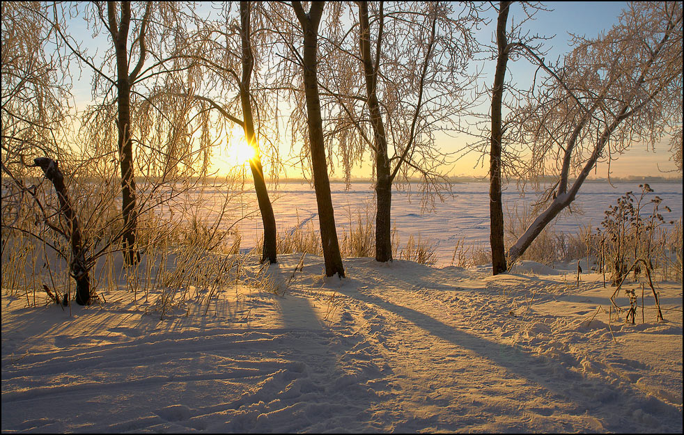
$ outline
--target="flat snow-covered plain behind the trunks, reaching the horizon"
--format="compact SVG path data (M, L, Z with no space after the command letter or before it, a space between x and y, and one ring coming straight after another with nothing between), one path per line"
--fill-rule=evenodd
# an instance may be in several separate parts
M658 195L663 205L672 209L671 213L661 212L666 220L678 220L682 217L682 184L681 183L650 183L655 192L649 194L646 200ZM332 183L332 203L335 207L335 221L338 234L350 224L356 226L359 214L366 219L366 211L371 222L375 216L375 200L373 187L370 183L352 183L350 189L345 189L343 183ZM392 220L396 225L397 237L400 244L405 244L410 235L421 235L435 245L435 256L438 266L448 266L453 256L453 249L458 240L463 239L466 244L482 244L489 246L489 184L485 182L458 183L453 185L454 196L444 197L442 203L438 198L434 207L421 214L421 197L416 191L407 189L395 191L392 196ZM619 182L612 186L606 182L586 182L574 205L580 207L582 214L561 214L554 229L566 234L576 234L584 225L590 225L596 230L603 221L605 210L609 205L615 205L616 200L627 191L635 194L641 192L639 182ZM217 203L212 195L219 194L205 192L208 203ZM302 224L305 228L318 230L318 208L316 194L309 183L282 182L270 195L274 200L273 209L279 231L288 231ZM522 211L524 205L536 203L537 193L527 193L521 196L515 189L515 184L508 186L503 193L504 214ZM255 209L256 195L250 193L245 198L244 213ZM650 213L652 207L646 207ZM256 216L242 221L238 228L242 233L242 248L248 251L256 246L256 240L263 234L261 218Z

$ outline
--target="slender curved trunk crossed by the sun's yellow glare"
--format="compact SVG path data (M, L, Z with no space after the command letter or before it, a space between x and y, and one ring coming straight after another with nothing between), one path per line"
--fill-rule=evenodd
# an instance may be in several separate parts
M268 260L269 262L274 263L277 262L276 219L273 214L273 207L268 197L266 182L263 177L261 155L259 154L258 143L256 143L254 118L251 113L251 102L249 101L249 83L251 81L251 72L254 69L254 56L252 55L251 45L249 43L249 35L251 32L249 12L249 1L240 1L240 22L242 25L240 31L240 36L242 38L240 102L242 103L244 136L247 138L247 143L254 147L255 150L254 158L249 159L249 168L251 168L251 174L252 177L254 177L254 189L256 190L256 199L259 203L259 211L261 212L261 221L263 222L263 251L261 253L261 262Z

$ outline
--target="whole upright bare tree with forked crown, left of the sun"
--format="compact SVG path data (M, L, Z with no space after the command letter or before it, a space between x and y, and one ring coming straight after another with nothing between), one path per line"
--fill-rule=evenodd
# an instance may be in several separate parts
M173 47L173 42L182 41L182 33L187 32L188 15L181 13L180 8L181 3L152 1L93 2L85 6L66 7L61 3L54 3L52 16L45 17L52 22L58 35L56 43L70 50L71 56L65 62L70 62L72 57L77 58L79 65L87 65L94 74L93 97L96 102L91 105L91 109L84 112L83 124L85 131L91 133L86 139L94 150L102 150L110 143L116 143L125 229L121 241L127 264L139 262L136 228L138 210L141 207L138 204L135 179L136 159L147 159L149 164L153 160L150 155L164 155L167 164L171 164L178 161L173 157L179 153L185 157L196 154L187 147L183 149L179 146L181 143L189 145L189 142L178 139L177 134L171 134L172 140L164 143L166 149L153 148L146 143L150 138L135 136L137 128L145 129L139 122L139 118L144 115L140 110L157 109L154 104L141 104L148 102L145 82L149 82L151 85L148 86L153 88L160 77L163 80L165 75L178 72L173 69L176 56L169 52L169 47ZM83 42L75 40L68 33L68 26L59 24L59 20L68 14L85 19L92 26L94 36L102 34L103 30L106 32L111 46L99 58L89 55L82 48ZM113 109L115 106L116 111ZM166 114L161 113L160 116L164 117ZM171 118L166 117L166 120L170 121ZM181 118L177 121L186 120ZM116 125L116 139L109 134L109 122ZM178 132L178 128L180 127L176 127L174 131ZM150 129L146 132L150 133ZM134 143L138 146L134 147Z

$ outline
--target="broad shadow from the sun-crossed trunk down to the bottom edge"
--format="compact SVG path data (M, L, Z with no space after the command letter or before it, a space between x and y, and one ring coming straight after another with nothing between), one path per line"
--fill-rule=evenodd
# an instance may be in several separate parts
M280 279L288 278L289 268L280 263L271 265L271 273ZM361 338L346 331L344 326L329 328L320 322L309 298L288 294L274 296L283 321L283 341L292 350L287 358L302 370L286 375L284 389L264 390L254 397L243 397L231 408L238 409L249 401L281 402L290 416L283 425L249 427L248 432L272 430L276 432L362 432L373 429L365 422L375 393L364 384L380 376L371 361L357 361L355 354L363 353ZM361 345L361 346L359 346ZM360 349L355 349L359 347ZM277 410L271 409L270 412ZM276 412L277 413L277 412ZM243 428L244 429L244 428Z

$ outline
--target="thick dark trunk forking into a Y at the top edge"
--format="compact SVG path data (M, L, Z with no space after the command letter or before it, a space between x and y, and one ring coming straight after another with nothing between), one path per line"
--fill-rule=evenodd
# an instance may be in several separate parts
M311 3L309 13L304 13L299 1L293 1L297 19L304 31L304 94L306 96L306 114L309 123L309 143L311 145L311 166L313 168L313 187L316 190L318 204L318 223L320 239L325 260L325 275L344 276L342 255L335 228L335 214L330 196L327 162L325 160L325 144L323 142L323 122L320 114L318 96L318 77L316 76L316 52L318 49L318 24L323 12L324 2Z

